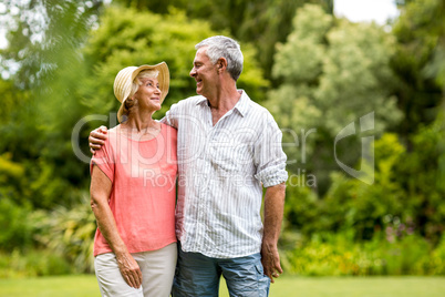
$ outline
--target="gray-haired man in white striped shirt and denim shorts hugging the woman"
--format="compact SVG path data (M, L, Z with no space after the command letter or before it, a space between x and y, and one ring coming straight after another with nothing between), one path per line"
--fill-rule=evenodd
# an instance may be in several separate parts
M288 174L281 132L237 89L244 58L235 40L211 37L195 48L190 76L198 95L173 104L162 120L178 130L173 296L218 296L221 274L230 296L268 296L282 273L277 243ZM104 137L93 131L90 146Z

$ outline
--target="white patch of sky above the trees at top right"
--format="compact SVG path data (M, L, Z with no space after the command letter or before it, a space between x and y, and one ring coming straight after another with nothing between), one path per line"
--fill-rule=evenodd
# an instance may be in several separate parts
M399 16L395 0L334 0L334 13L352 22L375 21L379 24Z

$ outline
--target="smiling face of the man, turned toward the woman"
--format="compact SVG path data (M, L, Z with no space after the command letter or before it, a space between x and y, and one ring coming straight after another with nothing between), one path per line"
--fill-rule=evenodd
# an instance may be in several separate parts
M207 48L200 48L193 61L190 76L196 81L196 93L205 98L211 96L213 90L217 86L218 71L207 57Z

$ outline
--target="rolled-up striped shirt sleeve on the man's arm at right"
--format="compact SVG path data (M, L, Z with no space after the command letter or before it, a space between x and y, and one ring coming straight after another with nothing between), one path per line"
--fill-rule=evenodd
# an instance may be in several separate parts
M288 180L286 171L287 156L282 151L282 133L272 115L267 113L263 130L255 144L255 177L265 187L284 183Z

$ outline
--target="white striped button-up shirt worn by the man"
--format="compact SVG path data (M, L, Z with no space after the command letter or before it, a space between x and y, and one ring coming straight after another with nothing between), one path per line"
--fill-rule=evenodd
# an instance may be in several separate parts
M246 92L213 125L204 96L172 105L163 122L176 127L176 235L185 252L234 258L259 253L262 186L286 182L281 131Z

